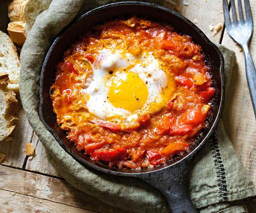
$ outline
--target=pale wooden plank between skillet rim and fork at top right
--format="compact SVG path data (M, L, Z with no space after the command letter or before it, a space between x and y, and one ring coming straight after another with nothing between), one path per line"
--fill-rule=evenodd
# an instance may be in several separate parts
M170 2L174 2L176 5ZM165 0L164 6L170 9L178 9L179 13L197 25L211 41L219 43L223 28L214 35L214 32L209 30L209 26L215 27L218 23L223 26L222 1L187 0L188 6L184 5L183 2L183 0Z

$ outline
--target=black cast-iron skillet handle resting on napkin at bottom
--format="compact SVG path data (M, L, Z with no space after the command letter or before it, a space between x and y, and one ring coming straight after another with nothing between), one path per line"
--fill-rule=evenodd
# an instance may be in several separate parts
M187 159L183 159L168 168L139 176L161 192L170 213L198 213L188 192L188 163Z

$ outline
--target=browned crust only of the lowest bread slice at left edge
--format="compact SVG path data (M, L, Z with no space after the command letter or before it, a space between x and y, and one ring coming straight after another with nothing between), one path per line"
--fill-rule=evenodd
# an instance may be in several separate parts
M18 101L16 99L15 93L7 88L9 83L10 79L8 74L0 74L0 90L3 92L6 102L6 108L3 117L8 122L7 132L3 138L0 138L0 141L11 134L18 121L18 117L15 115L18 111Z

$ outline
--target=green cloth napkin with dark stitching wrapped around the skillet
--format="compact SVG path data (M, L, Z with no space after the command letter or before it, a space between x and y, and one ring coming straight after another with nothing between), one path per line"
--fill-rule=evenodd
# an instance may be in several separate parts
M50 45L74 18L106 3L109 1L53 0L50 8L37 17L21 51L21 101L49 161L71 185L121 209L138 213L166 213L168 210L163 197L147 183L135 178L104 174L79 164L60 147L38 116L39 75ZM228 87L235 54L224 46L217 46L224 55ZM190 169L189 190L192 202L200 212L248 212L245 200L255 196L256 191L224 132L222 122L212 139L196 156L194 165Z

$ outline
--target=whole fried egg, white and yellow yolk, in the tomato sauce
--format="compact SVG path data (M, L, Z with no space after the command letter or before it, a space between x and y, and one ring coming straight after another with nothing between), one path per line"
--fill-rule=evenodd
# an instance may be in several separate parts
M139 115L161 111L175 90L173 77L151 52L134 56L102 49L92 69L82 91L88 112L123 129L138 124Z

